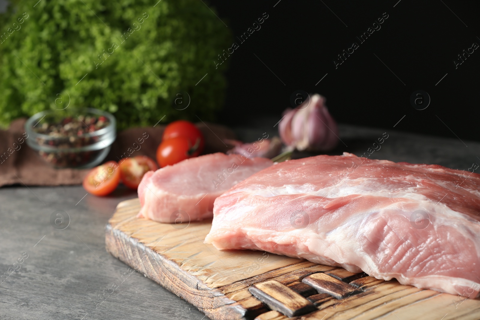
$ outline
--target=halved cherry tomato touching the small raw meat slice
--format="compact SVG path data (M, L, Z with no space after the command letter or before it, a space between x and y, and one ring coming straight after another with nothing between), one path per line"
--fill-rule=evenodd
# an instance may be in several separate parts
M155 161L146 155L126 158L119 162L120 178L123 184L131 189L138 189L138 185L147 171L157 170Z

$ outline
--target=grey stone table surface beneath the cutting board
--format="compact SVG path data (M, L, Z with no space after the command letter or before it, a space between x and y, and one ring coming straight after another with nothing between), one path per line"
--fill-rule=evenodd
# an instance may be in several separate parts
M271 125L269 121L263 124L270 128L269 135L275 135L277 120ZM237 132L245 141L253 141L265 130ZM378 144L384 132L388 138ZM341 142L330 154L348 151L463 170L480 164L479 142L452 137L340 126ZM374 148L378 150L372 152ZM85 194L81 186L0 189L0 319L204 319L196 308L137 272L124 276L98 305L102 301L98 296L129 274L128 266L105 250L104 227L117 203L136 193L120 189L104 198ZM63 230L50 222L57 210L70 217Z

